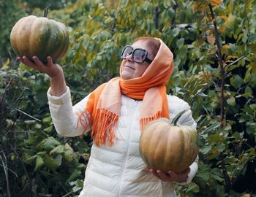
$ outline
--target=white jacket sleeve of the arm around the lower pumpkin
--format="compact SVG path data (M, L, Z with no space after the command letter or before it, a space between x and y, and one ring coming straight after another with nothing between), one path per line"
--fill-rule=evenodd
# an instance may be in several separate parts
M179 112L185 110L183 115L178 119L178 124L180 125L189 125L192 126L192 128L197 127L197 123L195 123L195 120L192 117L192 112L190 109L189 104L187 102L178 99L176 96L169 96L168 98L168 104L169 104L169 112L170 112L170 120L173 120L176 115L178 115ZM195 177L195 174L197 173L198 169L198 155L195 159L194 163L192 163L189 168L189 174L186 182L177 182L178 185L186 185L189 182L192 182L192 179Z

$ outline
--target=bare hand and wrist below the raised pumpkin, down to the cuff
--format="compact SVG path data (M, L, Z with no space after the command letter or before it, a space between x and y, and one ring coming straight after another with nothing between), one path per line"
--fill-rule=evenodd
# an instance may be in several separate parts
M67 91L64 72L59 64L53 63L53 59L50 56L47 57L46 64L42 63L37 56L33 56L34 62L30 61L26 56L19 56L18 60L32 69L48 74L50 77L50 94L52 96L61 96Z

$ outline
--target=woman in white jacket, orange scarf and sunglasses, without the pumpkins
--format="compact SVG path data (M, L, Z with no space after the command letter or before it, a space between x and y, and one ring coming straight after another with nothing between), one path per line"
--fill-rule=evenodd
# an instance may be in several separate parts
M100 85L72 107L61 66L48 57L19 60L50 77L48 99L56 131L61 136L80 136L91 130L94 144L80 197L175 196L172 182L186 184L197 171L197 161L176 174L146 167L139 153L140 132L158 117L196 127L189 105L166 95L173 72L173 54L161 39L140 37L121 53L120 75ZM154 136L152 136L154 137Z

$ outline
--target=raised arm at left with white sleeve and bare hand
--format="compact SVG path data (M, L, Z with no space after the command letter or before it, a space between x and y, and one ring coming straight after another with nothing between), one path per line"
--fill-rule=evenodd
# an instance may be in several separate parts
M18 57L18 59L27 66L50 77L50 88L48 90L48 100L50 107L50 115L56 131L61 136L80 136L85 132L85 127L89 121L82 118L82 124L79 120L80 112L86 108L87 98L80 101L72 107L69 88L66 85L64 72L59 64L54 64L52 58L48 57L47 63L42 63L36 56L30 61L26 56Z

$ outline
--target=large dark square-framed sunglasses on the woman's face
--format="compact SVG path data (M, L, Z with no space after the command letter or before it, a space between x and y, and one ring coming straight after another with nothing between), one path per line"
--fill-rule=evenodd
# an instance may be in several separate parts
M137 48L133 49L131 46L127 45L124 47L124 49L121 52L121 58L125 59L128 55L132 54L132 61L135 61L137 63L143 63L146 61L147 63L151 63L152 61L147 58L148 52L146 50Z

